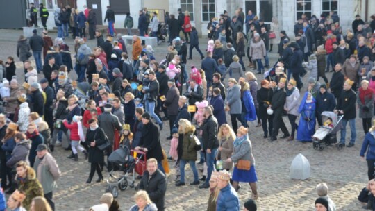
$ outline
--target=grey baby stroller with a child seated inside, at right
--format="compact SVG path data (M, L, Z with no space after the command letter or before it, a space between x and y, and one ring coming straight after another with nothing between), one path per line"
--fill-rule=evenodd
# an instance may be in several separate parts
M313 135L314 149L323 150L324 145L331 146L332 144L335 144L338 149L342 149L344 144L337 144L338 137L336 136L338 131L341 129L342 117L344 117L344 115L338 116L331 111L322 112L322 121L324 124L317 129Z

